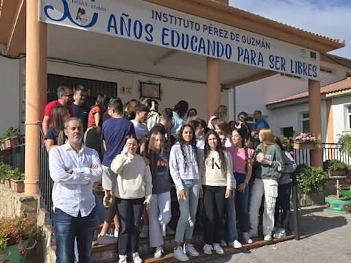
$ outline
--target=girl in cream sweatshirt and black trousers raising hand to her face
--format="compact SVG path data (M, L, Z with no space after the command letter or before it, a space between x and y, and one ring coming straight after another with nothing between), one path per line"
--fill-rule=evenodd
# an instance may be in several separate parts
M143 205L149 209L152 200L152 175L141 155L136 153L138 140L134 134L125 137L121 154L111 164L117 174L114 186L117 211L121 220L118 238L119 263L127 263L127 254L132 252L134 263L142 263L138 255L140 221ZM128 247L132 251L128 251Z

